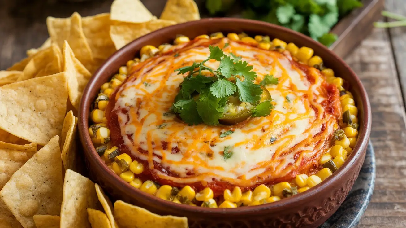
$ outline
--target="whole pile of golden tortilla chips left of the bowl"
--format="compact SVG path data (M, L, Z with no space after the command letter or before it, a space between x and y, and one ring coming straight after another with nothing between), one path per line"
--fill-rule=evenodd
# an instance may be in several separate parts
M117 49L199 19L193 0L168 0L160 19L139 0L115 0L110 13L90 17L47 18L43 45L0 71L1 228L188 227L186 217L112 204L82 176L75 115L92 74Z

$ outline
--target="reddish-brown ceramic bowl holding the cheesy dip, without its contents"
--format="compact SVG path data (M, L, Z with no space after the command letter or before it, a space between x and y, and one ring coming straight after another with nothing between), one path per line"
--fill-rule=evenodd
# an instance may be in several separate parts
M89 137L89 113L100 86L117 72L120 66L138 55L141 47L171 43L177 34L196 37L201 34L240 33L268 35L297 46L313 48L327 67L350 83L350 91L359 110L358 141L345 164L320 185L290 198L259 206L238 208L203 208L165 201L130 186L105 165L97 155ZM79 109L80 140L84 147L91 178L99 183L114 200L123 200L160 215L186 216L190 227L317 227L330 217L346 198L358 177L365 158L371 131L371 107L359 78L342 59L322 44L293 30L254 20L237 18L208 18L177 24L140 37L114 53L93 75L84 89Z

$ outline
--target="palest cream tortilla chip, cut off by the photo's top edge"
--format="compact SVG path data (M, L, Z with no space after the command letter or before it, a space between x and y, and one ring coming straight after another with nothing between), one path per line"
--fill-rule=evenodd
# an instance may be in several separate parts
M110 12L111 20L120 22L143 23L153 18L140 0L114 0Z

